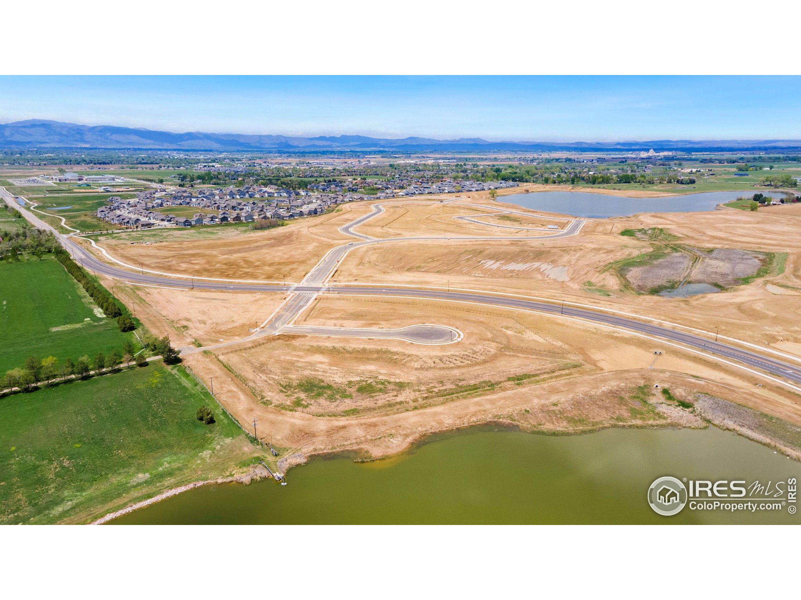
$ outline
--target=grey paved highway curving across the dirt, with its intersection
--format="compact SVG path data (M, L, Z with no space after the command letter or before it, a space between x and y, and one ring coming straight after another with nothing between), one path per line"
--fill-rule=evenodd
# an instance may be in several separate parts
M0 188L0 194L5 194L5 190ZM5 197L8 198L8 194L5 194ZM34 225L42 227L43 229L54 231L52 227L47 225L41 219L35 217L30 211L24 209L16 202L10 202L14 208L20 210L22 214L28 218L30 222L33 222ZM375 213L375 211L374 211ZM376 213L380 214L380 213ZM357 221L364 222L364 218L357 219ZM578 233L580 230L581 225L578 225L579 222L574 222L574 225L578 227L575 233ZM580 222L583 225L583 222ZM94 270L98 273L105 274L112 278L119 278L123 281L127 282L134 282L140 285L145 286L165 286L165 287L175 287L175 288L190 288L190 287L197 287L202 288L204 290L243 290L243 291L264 291L264 292L292 292L294 295L290 298L287 306L285 306L286 310L281 310L279 314L276 314L275 319L269 324L267 328L265 328L264 333L259 332L255 334L255 336L263 335L272 333L274 331L280 330L282 326L286 326L291 324L292 319L296 318L300 311L304 310L308 303L316 296L316 294L320 293L328 293L328 294L347 294L353 296L360 296L360 295L368 295L368 296L384 296L384 297L404 297L404 298L428 298L434 300L443 300L443 301L450 301L450 302L470 302L475 304L483 304L489 306L499 306L505 307L514 310L528 310L538 313L544 314L560 314L561 316L568 317L568 318L579 318L582 320L586 320L589 322L598 323L602 326L610 326L614 329L618 330L629 330L635 332L637 334L643 334L649 336L651 338L658 338L659 340L664 340L666 342L672 342L678 344L680 346L686 346L694 350L698 350L705 354L714 355L724 361L732 361L735 366L747 366L751 369L763 371L772 375L775 375L778 378L782 378L785 382L793 382L795 384L801 384L801 366L790 363L790 362L783 362L776 358L768 358L767 356L760 354L759 352L751 351L751 350L743 350L736 346L731 346L725 344L723 342L714 342L711 339L703 338L700 335L689 334L678 330L673 330L665 326L658 326L652 325L647 322L641 322L633 318L626 318L621 317L614 314L605 313L602 311L595 311L585 308L575 308L572 306L562 306L559 303L550 303L550 302L542 302L542 301L533 301L533 300L526 300L523 298L505 298L502 296L495 296L492 294L479 294L479 293L465 293L465 292L458 292L458 291L445 291L445 290L404 290L398 288L391 288L391 287L384 287L384 286L348 286L348 285L332 285L332 286L325 286L320 283L320 278L322 274L331 271L328 271L328 268L331 267L331 262L327 262L328 268L317 270L312 270L306 279L311 278L313 279L314 283L306 283L306 279L304 282L296 285L296 286L281 286L281 285L273 285L273 284L258 284L258 283L236 283L236 282L213 282L213 281L205 281L205 280L195 280L194 282L187 282L180 279L174 278L167 278L162 277L159 275L153 274L141 274L132 272L129 270L123 270L116 266L111 266L106 262L100 261L98 258L95 258L93 254L89 251L83 249L82 246L78 246L75 242L73 242L68 236L58 234L59 240L62 244L66 247L67 250L70 251L70 254L73 255L75 260L79 262L83 262L83 266L89 270ZM564 230L560 232L562 235L557 235L555 237L565 237L565 234L568 233L568 230ZM573 234L575 234L573 233ZM545 238L546 236L542 236ZM407 238L408 239L408 238ZM441 239L441 238L415 238L415 239ZM486 239L481 237L476 237L473 239ZM513 239L513 238L502 238L502 239ZM530 238L525 238L530 239ZM541 238L538 238L541 239ZM370 242L393 242L398 241L398 238L390 238L390 239L380 239L380 240L370 240ZM354 244L355 245L355 244ZM352 248L353 246L338 246L334 250L332 250L329 255L334 255L336 250L340 252L344 252L347 254L348 248ZM343 250L344 249L344 250ZM344 257L344 254L340 255L340 258ZM324 261L326 258L324 258ZM330 260L330 259L329 259ZM318 265L319 266L319 265ZM312 274L315 273L312 277ZM292 304L292 306L289 306ZM364 330L362 330L364 333ZM239 342L244 342L254 336L250 336L245 338L244 340L235 340L231 342L226 342L226 344L234 344ZM207 349L205 349L207 350ZM799 389L795 386L794 389Z

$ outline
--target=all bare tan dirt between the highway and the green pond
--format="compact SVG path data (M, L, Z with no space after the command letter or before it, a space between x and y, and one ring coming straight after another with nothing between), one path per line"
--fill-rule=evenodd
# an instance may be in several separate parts
M543 420L542 406L529 403L561 403L566 398L578 402L581 394L594 397L599 381L619 382L622 386L670 381L671 390L679 386L689 390L688 394L706 391L801 422L798 398L779 386L757 387L756 383L763 380L659 342L534 314L475 313L470 308L442 308L411 300L376 300L373 305L367 306L361 299L349 302L345 298L323 298L308 313L306 322L359 326L383 322L384 326L400 326L421 318L430 321L436 316L439 322L463 330L465 340L452 346L427 347L405 342L280 336L249 348L229 350L220 355L222 362L198 355L187 360L195 370L215 376L215 390L224 389L221 401L240 421L265 419L265 431L280 439L282 446L304 452L310 448L319 451L330 444L336 448L367 447L382 454L392 451L389 448L395 447L396 442L386 447L387 442L372 442L384 439L388 431L403 447L404 440L408 442L421 432L509 420L509 415L514 422L529 425L541 422L545 428L566 426L565 422L559 425L553 415ZM657 349L665 354L654 355ZM582 366L550 373L560 362ZM522 379L517 385L516 377L537 372L546 375ZM613 373L616 377L608 377ZM311 398L297 387L289 394L282 390L286 382L292 384L304 378L344 390L352 398L336 394ZM365 381L384 381L388 385L376 394L357 394L355 386L347 385ZM494 385L485 384L475 395L441 394L481 382ZM405 386L398 387L398 383ZM300 398L301 402L292 406L293 398ZM581 410L590 410L586 404L580 406ZM346 411L353 408L363 416L320 416L348 415L352 412ZM526 420L531 414L525 413L526 408L537 408L537 420ZM593 415L590 410L582 416L577 408L570 418L587 419L602 426L603 419Z

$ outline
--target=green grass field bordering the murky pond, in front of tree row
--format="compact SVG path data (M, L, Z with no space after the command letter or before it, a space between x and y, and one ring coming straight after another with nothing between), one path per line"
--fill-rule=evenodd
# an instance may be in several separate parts
M199 406L216 422L195 418ZM0 523L88 522L252 462L256 448L163 363L0 399Z

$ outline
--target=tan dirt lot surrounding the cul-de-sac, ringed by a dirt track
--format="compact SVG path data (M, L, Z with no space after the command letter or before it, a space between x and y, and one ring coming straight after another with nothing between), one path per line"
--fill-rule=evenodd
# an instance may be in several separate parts
M581 354L538 333L525 318L498 316L481 307L323 297L298 324L392 328L421 322L458 326L469 342L421 346L282 335L248 349L227 350L219 358L259 390L260 398L309 414L418 409L529 385L539 381L537 375L553 378L587 370ZM509 379L521 376L520 382Z

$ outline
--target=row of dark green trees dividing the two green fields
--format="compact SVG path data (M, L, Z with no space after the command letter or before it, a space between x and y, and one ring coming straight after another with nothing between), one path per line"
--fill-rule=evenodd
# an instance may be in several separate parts
M167 336L157 338L155 335L146 334L143 344L153 354L160 354L168 365L180 362L180 351L170 345L170 339ZM7 370L6 374L0 378L0 390L15 387L22 391L30 391L42 383L45 385L64 383L76 378L87 378L92 373L95 375L104 372L111 373L119 369L120 365L129 365L131 368L146 366L147 358L143 351L135 352L134 345L130 341L123 344L122 351L115 349L111 350L109 354L98 352L93 359L82 356L77 361L66 358L64 362L59 362L58 358L54 356L42 359L29 356L22 366Z

